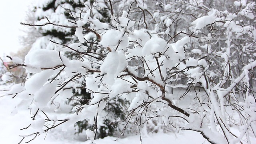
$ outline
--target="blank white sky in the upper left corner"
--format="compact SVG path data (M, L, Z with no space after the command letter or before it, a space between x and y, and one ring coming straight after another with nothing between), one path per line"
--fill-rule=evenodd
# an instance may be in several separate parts
M26 16L28 5L36 0L1 0L0 4L0 57L16 52L21 46L18 36L22 35L20 22Z

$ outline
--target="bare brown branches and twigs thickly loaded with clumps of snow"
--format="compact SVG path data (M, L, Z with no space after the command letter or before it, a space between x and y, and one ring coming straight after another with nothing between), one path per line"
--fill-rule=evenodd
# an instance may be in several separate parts
M39 38L16 63L34 74L13 92L30 97L31 126L38 129L32 135L87 120L94 142L107 117L123 126L121 134L193 130L212 144L256 138L254 1L46 1L31 26L53 36ZM180 87L184 94L173 93ZM48 118L49 105L58 97L81 100L70 92L81 88L90 93L85 103L69 116ZM111 112L118 99L126 101L118 107L124 119Z

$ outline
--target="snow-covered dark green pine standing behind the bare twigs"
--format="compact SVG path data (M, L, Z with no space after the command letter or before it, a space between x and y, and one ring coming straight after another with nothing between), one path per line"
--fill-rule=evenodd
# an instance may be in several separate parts
M84 2L81 2L80 0L47 0L45 2L40 2L38 6L35 7L35 13L37 16L37 21L35 24L43 24L45 22L51 22L54 24L60 24L65 26L70 26L71 28L62 28L58 26L44 26L44 27L38 27L38 32L42 34L42 37L38 38L34 45L32 46L32 49L37 48L43 48L43 49L60 49L62 47L55 47L55 44L71 44L70 47L76 49L78 51L86 50L88 54L94 53L99 48L96 48L98 44L98 38L92 36L92 34L95 34L93 31L84 31L83 34L88 35L85 36L88 39L84 39L84 42L82 45L78 44L80 40L78 40L76 36L76 28L72 28L75 24L77 24L78 20L82 20L84 17L81 16L81 12L86 11L86 6L84 5ZM93 1L88 1L86 3L88 5L94 4ZM102 5L104 6L104 5ZM94 8L92 8L94 9ZM87 17L94 21L95 24L97 24L97 20L100 20L100 22L108 23L110 22L110 12L104 8L98 8L92 10L93 12L90 12L90 9L87 9L89 15ZM64 13L64 14L63 14ZM84 22L85 27L90 27L89 23ZM93 27L93 26L92 26ZM105 28L108 27L104 26ZM104 29L103 29L104 31ZM53 44L50 42L52 40L53 42L56 42ZM80 49L81 48L81 49ZM75 51L68 51L65 52L65 55L70 59L80 59L81 61L83 58L78 57L78 53ZM96 57L97 59L104 58L104 55ZM88 104L88 102L91 100L91 94L85 86L85 81L78 82L76 86L72 87L73 96L70 99L76 99L76 102L73 103L74 110L78 110L81 106L84 104ZM69 104L72 101L68 101ZM114 118L116 120L124 120L125 114L122 109L126 106L126 101L122 100L120 98L110 99L107 100L106 108L104 109L106 111L106 116L103 118L103 123L98 128L97 131L97 138L104 138L106 136L113 136L114 134L117 134L118 131L120 131L118 127L118 123L112 122L111 120ZM86 129L94 130L97 126L91 125L88 123L88 120L79 121L75 124L78 131L77 133L81 133Z

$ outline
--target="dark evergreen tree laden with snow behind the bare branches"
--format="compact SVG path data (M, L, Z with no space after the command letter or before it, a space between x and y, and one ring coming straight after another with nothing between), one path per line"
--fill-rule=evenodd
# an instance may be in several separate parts
M91 3L90 3L91 4ZM28 13L28 17L26 20L26 23L42 23L44 21L52 20L54 23L62 23L65 24L65 22L73 21L73 24L76 23L76 21L80 20L78 16L75 14L73 15L73 12L81 12L82 8L85 8L86 6L82 4L82 2L76 2L74 0L62 0L62 1L40 1L38 6L36 6L33 10L33 13ZM64 13L64 14L63 14ZM107 10L101 10L98 9L95 11L95 13L98 13L98 16L95 16L97 20L100 20L101 22L110 22L110 15L107 16L108 13ZM110 14L110 12L109 12ZM36 20L37 19L37 20ZM106 25L106 24L105 24ZM106 27L106 26L105 26ZM53 42L60 42L61 44L71 44L72 47L80 47L80 48L90 48L92 52L94 52L96 49L96 44L94 43L94 38L90 36L91 32L85 32L88 34L88 40L92 42L84 42L83 44L78 43L79 40L75 36L75 28L70 27L68 30L66 28L61 27L29 27L31 29L28 29L26 31L27 35L22 37L22 40L24 40L25 48L32 47L32 50L38 49L38 48L46 48L50 50L58 49L55 46L53 46ZM55 39L56 41L50 42L49 40ZM23 50L26 50L26 49ZM22 51L23 51L22 50ZM18 52L20 54L21 52ZM26 55L26 54L25 54ZM67 56L69 59L80 59L77 57L77 53L75 51L64 51L63 55ZM90 92L86 92L86 88L84 88L84 80L80 80L78 82L75 82L75 86L70 87L72 89L73 95L68 98L67 102L69 104L72 104L74 106L74 110L79 108L82 104L87 104L88 100L90 100ZM74 99L76 99L75 102ZM70 101L73 100L73 101ZM105 111L109 112L104 117L103 124L101 126L98 126L99 130L97 131L97 137L98 138L104 138L106 136L112 136L114 132L118 131L117 123L111 122L110 119L112 117L114 118L120 118L124 120L124 112L121 110L124 106L124 100L121 99L115 99L115 101L118 100L118 103L114 104L114 100L109 100L108 105L104 109ZM58 107L58 103L62 103L63 101L59 102L58 100L54 100L54 104L56 107ZM111 106L110 106L111 105ZM108 118L110 117L110 119ZM87 120L81 120L76 123L76 126L78 126L78 133L82 132L83 130L86 130L88 128L94 129L95 126L91 126L88 124Z

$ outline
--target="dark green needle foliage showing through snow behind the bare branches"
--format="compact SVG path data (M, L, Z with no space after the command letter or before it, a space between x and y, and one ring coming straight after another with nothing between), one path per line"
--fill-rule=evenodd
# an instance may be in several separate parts
M84 0L84 2L87 0ZM50 0L47 4L44 5L42 8L43 11L46 10L56 10L58 6L61 6L62 4L70 4L72 6L71 10L65 9L64 14L62 16L66 17L68 20L71 20L72 22L75 22L76 20L80 20L80 18L76 17L74 18L72 14L70 13L71 11L74 12L78 9L82 10L84 6L84 2L81 1L74 1L74 0L62 0L59 2L60 5L57 5L58 3L57 0ZM90 0L90 3L93 4L94 0ZM36 8L35 8L36 10ZM110 19L110 10L104 9L104 8L98 8L98 12L100 13L100 22L104 23L109 23L111 21ZM41 19L43 19L42 17ZM40 18L38 18L40 20ZM51 21L51 19L50 19ZM85 27L90 27L90 24L84 24ZM74 37L75 35L75 28L71 28L69 31L62 31L58 29L58 27L53 27L51 30L42 30L42 35L43 36L53 36L56 38L59 38L62 40L63 44L69 44L70 42L78 42L77 37ZM85 30L83 34L87 34L90 31ZM96 45L97 40L94 38L89 39L88 41L84 42L83 45L88 47L89 51L96 51ZM66 56L70 59L76 58L76 52L67 52ZM91 98L91 94L86 92L85 88L74 88L73 89L73 96L71 99L76 99L75 102L73 103L74 109L77 110L78 112L83 108L84 105L87 105ZM126 104L128 104L127 101L122 100L120 98L109 98L106 100L106 108L104 108L104 111L106 112L106 116L104 116L104 120L100 126L97 128L97 135L96 138L104 138L106 136L114 136L116 132L119 131L118 123L113 122L111 120L120 120L123 121L126 118L126 115L124 113L124 109L126 108ZM70 103L70 100L68 101ZM77 128L76 133L81 133L84 130L90 129L95 131L96 126L95 125L90 125L88 123L88 120L83 120L79 121L75 124Z

